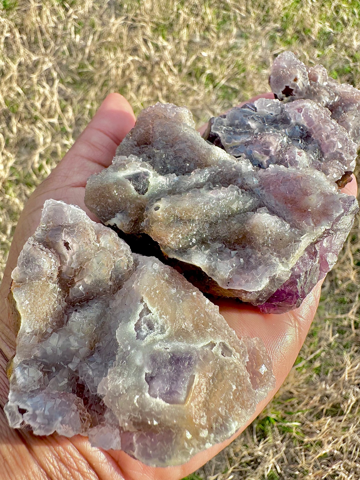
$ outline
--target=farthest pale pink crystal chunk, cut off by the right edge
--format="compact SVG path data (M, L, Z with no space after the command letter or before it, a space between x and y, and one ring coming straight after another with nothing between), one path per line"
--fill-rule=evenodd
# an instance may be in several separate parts
M360 90L336 82L323 65L306 67L292 52L276 57L269 83L279 100L309 98L328 108L331 117L360 146Z

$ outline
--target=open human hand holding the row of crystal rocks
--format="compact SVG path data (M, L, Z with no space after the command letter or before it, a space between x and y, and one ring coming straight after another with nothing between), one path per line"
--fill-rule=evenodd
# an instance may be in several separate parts
M272 94L264 94L273 97ZM255 97L259 98L259 96ZM254 99L255 99L254 98ZM252 99L252 100L254 100ZM13 325L8 319L5 301L11 272L16 266L25 241L39 224L45 200L53 198L76 204L96 220L84 205L87 178L110 165L118 144L131 130L135 117L129 103L119 94L110 94L95 117L48 178L31 195L19 218L9 259L0 288L0 406L7 400L8 382L4 367L15 351ZM356 195L354 179L342 192ZM283 314L264 314L256 307L233 300L217 300L220 313L238 336L261 336L273 361L276 389L261 402L252 418L232 438L194 456L180 467L152 468L122 451L103 451L91 447L87 438L71 439L53 434L37 437L29 432L12 430L0 411L1 475L4 479L181 479L193 472L228 445L260 413L290 371L314 317L320 296L319 283L301 307Z

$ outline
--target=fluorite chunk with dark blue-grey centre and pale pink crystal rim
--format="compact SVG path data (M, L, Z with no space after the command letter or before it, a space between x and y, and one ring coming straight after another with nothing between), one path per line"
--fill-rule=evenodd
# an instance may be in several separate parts
M205 138L256 167L312 167L337 182L356 165L357 146L348 132L312 100L259 98L211 119Z

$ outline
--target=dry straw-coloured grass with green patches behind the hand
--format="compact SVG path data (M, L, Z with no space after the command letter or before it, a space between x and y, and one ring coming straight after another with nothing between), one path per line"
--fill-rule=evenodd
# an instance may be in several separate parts
M109 92L201 123L268 90L283 49L359 86L359 16L358 0L0 1L0 268L26 198ZM360 478L359 249L356 223L286 383L189 478Z

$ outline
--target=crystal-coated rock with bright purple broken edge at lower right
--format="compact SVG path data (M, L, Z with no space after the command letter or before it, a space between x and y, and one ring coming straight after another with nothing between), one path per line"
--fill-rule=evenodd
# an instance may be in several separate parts
M326 142L331 169L336 153ZM205 141L187 108L159 103L141 112L112 165L89 178L85 204L110 227L150 236L204 292L276 313L299 307L331 270L358 211L321 169L257 168Z

